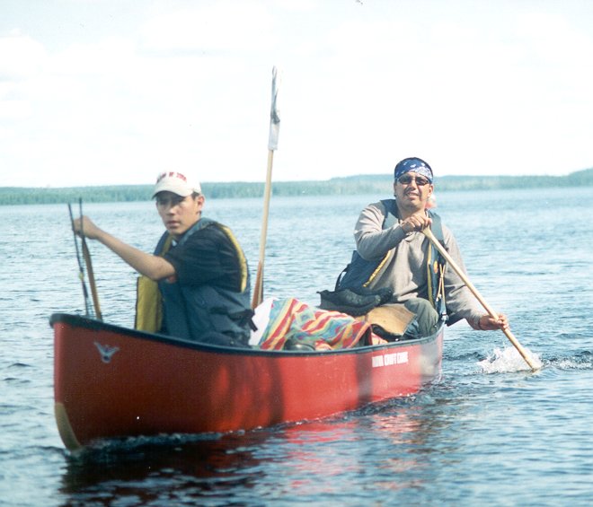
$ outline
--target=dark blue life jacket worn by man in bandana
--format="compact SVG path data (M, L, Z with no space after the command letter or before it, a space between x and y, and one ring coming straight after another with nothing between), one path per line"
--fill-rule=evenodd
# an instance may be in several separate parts
M397 223L397 206L395 199L383 199L381 203L385 207L385 219L382 228L389 229ZM435 235L441 245L445 246L443 228L440 217L432 210L427 210L432 220L430 230ZM427 239L428 241L428 239ZM369 284L376 278L376 275L385 266L387 259L392 255L392 250L388 251L383 258L367 260L360 257L357 250L352 252L350 264L344 268L336 282L336 291L341 289L360 290L367 289ZM445 304L445 258L443 258L438 249L429 243L429 250L426 260L428 295L429 302L442 319L447 317L447 307Z

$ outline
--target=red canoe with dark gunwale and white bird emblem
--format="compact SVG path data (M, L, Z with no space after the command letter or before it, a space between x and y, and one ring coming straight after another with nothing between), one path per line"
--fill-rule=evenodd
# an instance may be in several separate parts
M54 389L66 448L162 433L250 430L411 395L440 375L427 338L330 352L205 345L57 313Z

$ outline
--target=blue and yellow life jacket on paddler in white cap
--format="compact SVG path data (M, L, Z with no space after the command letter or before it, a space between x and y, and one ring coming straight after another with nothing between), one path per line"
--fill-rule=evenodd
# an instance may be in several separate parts
M207 334L217 333L246 344L249 341L253 315L249 295L249 270L243 250L233 233L221 223L201 218L183 234L178 246L187 241L191 234L205 227L217 227L235 248L241 270L240 290L237 292L208 284L171 284L164 280L157 284L139 282L137 328L147 324L150 328L143 328L144 330L161 331L194 341L202 341L202 337ZM156 245L155 255L164 255L170 246L171 235L165 232ZM139 302L144 302L141 309L138 309ZM156 311L150 315L155 308ZM143 317L138 318L138 315Z

